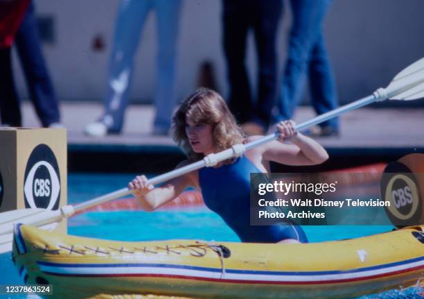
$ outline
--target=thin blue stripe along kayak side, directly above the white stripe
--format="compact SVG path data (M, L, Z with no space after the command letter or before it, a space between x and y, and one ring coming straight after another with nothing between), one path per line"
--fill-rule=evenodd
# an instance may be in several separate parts
M227 273L242 273L242 274L263 274L263 275L324 275L324 274L338 274L338 273L357 273L362 271L370 271L381 268L389 268L392 266L399 266L403 264L409 264L413 262L419 262L424 260L423 257L416 257L414 259L407 259L401 262L394 262L390 264L382 264L378 266L370 266L365 268L357 268L353 270L337 270L337 271L256 271L256 270L238 270L226 268ZM222 272L221 268L206 268L200 266L184 266L184 265L172 265L172 264L60 264L52 262L37 262L39 266L58 266L65 268L114 268L114 267L156 267L156 268L184 268L189 270L198 271L209 271L209 272Z

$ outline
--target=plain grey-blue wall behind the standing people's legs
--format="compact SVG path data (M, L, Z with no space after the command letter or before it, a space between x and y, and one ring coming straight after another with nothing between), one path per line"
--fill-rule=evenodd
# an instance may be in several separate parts
M44 44L44 53L59 99L100 101L118 0L35 0L35 3L39 16L55 18L56 40L53 44ZM290 6L287 0L284 3L278 40L280 70L290 30ZM213 62L220 92L227 94L220 10L219 0L184 2L178 46L179 98L195 89L200 63L204 60ZM325 31L342 103L386 85L400 69L423 56L423 11L422 0L334 1ZM104 51L92 49L96 35L104 37ZM141 37L131 94L134 101L146 102L152 99L155 84L154 14L150 15ZM248 45L247 65L251 78L256 78L251 37ZM19 92L25 98L27 93L20 70L17 81Z

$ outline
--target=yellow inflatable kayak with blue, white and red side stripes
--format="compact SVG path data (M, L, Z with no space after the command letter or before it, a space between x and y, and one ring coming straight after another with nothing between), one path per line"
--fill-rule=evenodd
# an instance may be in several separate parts
M242 244L108 241L16 225L13 262L25 283L53 286L46 298L353 298L421 280L423 230Z

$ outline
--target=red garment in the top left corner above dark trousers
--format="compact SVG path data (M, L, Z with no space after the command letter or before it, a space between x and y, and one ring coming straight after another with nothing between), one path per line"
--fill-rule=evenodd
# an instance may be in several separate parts
M30 0L0 0L0 49L10 48Z

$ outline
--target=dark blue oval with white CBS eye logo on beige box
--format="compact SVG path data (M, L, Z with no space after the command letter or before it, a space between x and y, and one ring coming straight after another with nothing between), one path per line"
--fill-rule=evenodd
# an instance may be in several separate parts
M60 198L58 161L51 148L39 144L26 163L24 179L25 207L57 210Z

